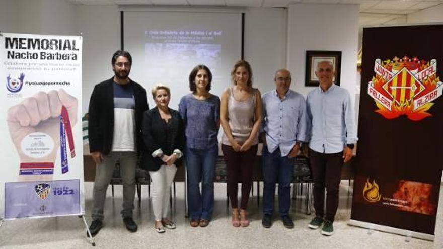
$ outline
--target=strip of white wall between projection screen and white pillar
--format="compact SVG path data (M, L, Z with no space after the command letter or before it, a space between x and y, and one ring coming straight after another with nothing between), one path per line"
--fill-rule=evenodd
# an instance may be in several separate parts
M245 60L253 86L263 94L274 89L274 73L286 67L287 10L248 8L245 12Z

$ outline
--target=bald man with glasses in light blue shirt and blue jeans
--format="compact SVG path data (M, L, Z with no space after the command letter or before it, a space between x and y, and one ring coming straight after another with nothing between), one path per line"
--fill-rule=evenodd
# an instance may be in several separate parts
M305 98L289 89L290 72L275 73L276 89L263 95L263 220L264 227L272 226L275 183L278 183L278 208L283 225L293 228L289 217L290 183L295 157L306 135Z

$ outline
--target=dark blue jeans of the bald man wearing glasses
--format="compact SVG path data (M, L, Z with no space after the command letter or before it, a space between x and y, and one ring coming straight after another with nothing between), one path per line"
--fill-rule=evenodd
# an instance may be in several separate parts
M293 177L295 158L281 156L280 149L269 153L268 147L263 146L263 213L274 212L275 184L278 183L278 211L280 216L286 216L290 208L290 190Z

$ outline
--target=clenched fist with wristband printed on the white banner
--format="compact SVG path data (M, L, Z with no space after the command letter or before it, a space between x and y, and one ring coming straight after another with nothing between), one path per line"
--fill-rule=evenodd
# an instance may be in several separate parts
M70 125L77 123L78 100L63 89L38 92L8 110L8 127L21 165L55 164L60 146L60 114L66 107ZM46 166L47 167L47 166ZM42 167L40 167L42 168ZM44 167L43 167L44 168ZM54 169L56 170L56 169ZM28 171L29 172L29 171ZM51 180L52 174L21 173L21 181Z

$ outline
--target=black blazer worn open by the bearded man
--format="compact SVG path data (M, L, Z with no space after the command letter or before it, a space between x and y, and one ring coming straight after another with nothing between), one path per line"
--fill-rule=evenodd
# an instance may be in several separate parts
M141 119L144 111L149 110L146 90L137 82L130 80L134 86L135 100L135 143L137 150L143 149L141 138ZM88 136L92 152L109 154L112 149L114 129L114 77L105 80L94 87L89 101Z

